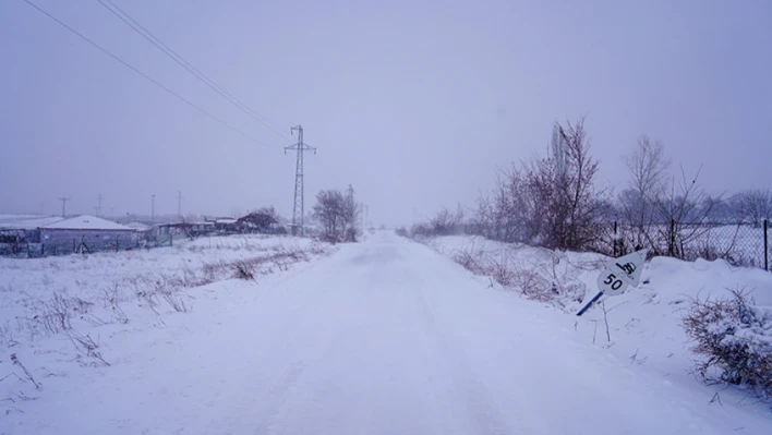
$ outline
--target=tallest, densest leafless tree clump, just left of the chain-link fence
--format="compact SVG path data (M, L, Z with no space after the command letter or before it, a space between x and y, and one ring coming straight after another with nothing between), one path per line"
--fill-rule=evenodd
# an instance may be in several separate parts
M492 200L481 200L478 220L505 242L592 249L600 241L606 192L594 179L584 120L555 123L551 155L512 165L499 176Z

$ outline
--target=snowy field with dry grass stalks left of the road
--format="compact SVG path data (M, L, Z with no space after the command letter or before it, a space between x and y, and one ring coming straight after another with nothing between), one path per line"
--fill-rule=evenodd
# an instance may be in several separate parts
M169 322L184 322L176 314L206 311L221 293L238 293L245 282L234 279L238 267L260 287L333 251L306 239L240 235L153 250L0 257L1 411L23 414L29 397L49 398L22 365L41 385L77 367L111 366L121 341L141 342Z

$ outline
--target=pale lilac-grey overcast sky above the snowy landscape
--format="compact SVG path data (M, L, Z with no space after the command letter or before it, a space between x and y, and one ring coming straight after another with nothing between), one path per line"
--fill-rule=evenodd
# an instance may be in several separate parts
M772 186L772 2L112 0L284 135L229 105L96 0L0 2L0 213L291 216L352 183L376 222L472 205L496 171L587 116L600 182L648 133L712 193Z

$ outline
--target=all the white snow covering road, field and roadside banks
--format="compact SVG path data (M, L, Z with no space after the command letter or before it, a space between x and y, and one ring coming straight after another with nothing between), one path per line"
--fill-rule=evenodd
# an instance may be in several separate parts
M196 240L179 250L73 256L71 265L65 258L9 259L0 263L5 282L0 298L45 294L36 289L56 267L46 262L61 262L57 266L64 269L56 271L48 291L72 274L72 286L85 294L92 280L110 283L121 274L167 267L182 273L179 263L188 261L195 270L215 257L245 255L248 244L287 249L295 239L213 240L222 247L207 249L206 240ZM445 242L469 240L439 244ZM723 404L711 403L717 387L686 372L688 350L675 336L676 306L670 304L704 282L711 289L771 282L752 270L652 262L642 276L650 282L614 301L628 303L610 313L613 347L592 343L589 317L575 326L576 317L563 310L491 288L488 279L447 256L388 232L281 270L256 281L230 279L189 289L194 298L189 313L157 307L161 315L156 315L126 302L126 309L135 309L129 323L79 326L98 338L110 366L75 359L72 342L61 334L7 348L43 389L13 376L0 382L0 396L13 399L0 402L7 413L0 433L772 431L769 410L750 400L738 403L736 391L721 391ZM623 326L632 313L641 321ZM639 348L634 361L632 352L620 351L625 346ZM667 358L674 349L678 354ZM24 379L21 368L2 358L0 378L11 372Z

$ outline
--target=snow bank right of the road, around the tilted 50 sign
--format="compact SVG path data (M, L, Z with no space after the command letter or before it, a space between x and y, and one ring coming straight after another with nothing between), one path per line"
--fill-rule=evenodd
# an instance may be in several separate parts
M547 306L554 311L554 321L564 328L575 330L615 358L629 359L631 364L641 365L640 370L654 371L674 382L697 382L693 374L697 355L690 350L693 343L689 342L681 326L681 317L691 299L729 299L732 290L745 289L756 300L760 312L767 313L772 306L772 274L769 271L732 267L721 259L684 262L654 257L646 263L637 288L618 297L604 297L588 313L577 317L575 313L584 301L598 293L598 276L607 259L603 255L554 253L466 235L442 237L425 243L457 259L461 254L471 254L482 266L504 262L547 275L556 268L558 277L568 277L583 287L581 301L558 299L546 305L534 303L534 310ZM490 287L502 288L491 277L479 279ZM519 289L515 286L510 290ZM765 333L772 335L772 331ZM738 400L741 398L739 395Z

